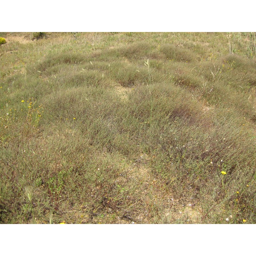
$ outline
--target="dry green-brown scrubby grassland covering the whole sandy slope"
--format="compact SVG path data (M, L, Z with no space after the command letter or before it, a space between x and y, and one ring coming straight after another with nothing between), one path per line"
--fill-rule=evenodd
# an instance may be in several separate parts
M254 33L46 35L1 33L1 223L256 223Z

